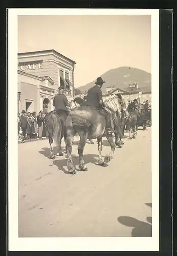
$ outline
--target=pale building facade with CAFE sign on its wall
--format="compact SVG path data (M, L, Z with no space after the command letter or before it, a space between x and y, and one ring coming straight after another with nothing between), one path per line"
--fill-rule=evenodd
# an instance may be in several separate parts
M55 50L18 53L18 112L53 110L58 87L73 99L75 64Z

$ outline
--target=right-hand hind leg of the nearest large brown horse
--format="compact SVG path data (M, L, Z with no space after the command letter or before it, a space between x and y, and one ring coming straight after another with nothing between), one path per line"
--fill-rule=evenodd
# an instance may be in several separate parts
M84 160L83 160L83 150L84 150L84 146L86 144L88 133L83 132L83 131L79 131L78 134L80 136L80 142L79 142L79 145L78 145L78 148L77 148L78 155L79 155L79 169L86 172L88 169L87 169L87 167L84 163Z

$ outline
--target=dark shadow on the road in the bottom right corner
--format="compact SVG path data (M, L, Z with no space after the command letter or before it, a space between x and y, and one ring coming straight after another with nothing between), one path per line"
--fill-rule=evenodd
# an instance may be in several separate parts
M131 230L131 237L152 237L152 225L149 223L128 216L120 216L118 221L124 226L133 228Z

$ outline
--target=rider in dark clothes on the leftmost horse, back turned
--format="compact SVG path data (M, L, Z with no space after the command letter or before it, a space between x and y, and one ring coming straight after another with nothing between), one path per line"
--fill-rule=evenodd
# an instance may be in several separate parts
M64 89L62 87L58 88L58 94L54 97L53 106L55 107L57 115L63 117L65 120L69 113L67 106L70 106L70 104L67 97L64 95Z

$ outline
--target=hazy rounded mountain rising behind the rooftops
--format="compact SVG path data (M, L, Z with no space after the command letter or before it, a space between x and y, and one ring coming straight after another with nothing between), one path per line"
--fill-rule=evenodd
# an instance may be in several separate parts
M130 69L130 70L129 70ZM151 87L151 74L141 69L119 67L111 69L104 74L100 75L104 81L102 91L106 92L106 87L116 87L120 89L126 89L129 84L134 82L139 84L139 88ZM78 87L80 91L88 91L93 87L95 81L85 84L85 86Z

